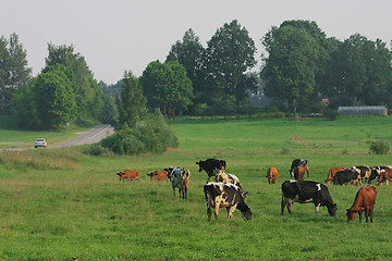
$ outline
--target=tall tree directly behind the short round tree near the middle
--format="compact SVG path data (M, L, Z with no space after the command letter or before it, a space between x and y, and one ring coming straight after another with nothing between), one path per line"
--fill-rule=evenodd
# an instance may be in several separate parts
M192 29L185 32L181 41L176 41L170 49L167 62L177 61L186 70L186 75L191 79L194 89L194 104L204 102L205 94L208 94L203 72L205 49L199 42L199 38Z

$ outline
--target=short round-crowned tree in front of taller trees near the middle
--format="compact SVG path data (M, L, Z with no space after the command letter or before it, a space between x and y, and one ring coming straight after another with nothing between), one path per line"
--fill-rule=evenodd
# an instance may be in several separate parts
M151 62L140 77L147 104L160 108L167 117L175 119L192 104L193 86L177 61Z

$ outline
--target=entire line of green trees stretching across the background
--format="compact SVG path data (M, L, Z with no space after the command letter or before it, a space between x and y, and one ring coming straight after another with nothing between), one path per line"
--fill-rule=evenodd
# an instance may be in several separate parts
M328 38L316 22L296 20L272 26L261 44L257 67L255 42L238 21L218 28L206 47L191 28L166 61L107 85L97 83L73 46L49 44L46 66L32 77L26 51L12 34L0 38L0 110L25 127L62 128L68 122L135 124L147 109L172 119L244 113L255 110L250 97L262 96L271 102L259 110L294 116L339 105L391 105L392 54L380 39Z

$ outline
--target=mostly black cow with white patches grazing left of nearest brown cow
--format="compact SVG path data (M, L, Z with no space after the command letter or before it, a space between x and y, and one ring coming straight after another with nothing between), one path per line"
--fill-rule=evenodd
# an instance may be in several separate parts
M322 206L327 207L331 216L335 215L338 209L332 201L328 187L317 182L285 181L282 184L281 214L283 214L284 207L287 207L289 214L291 214L291 207L294 202L314 202L316 214L319 214Z

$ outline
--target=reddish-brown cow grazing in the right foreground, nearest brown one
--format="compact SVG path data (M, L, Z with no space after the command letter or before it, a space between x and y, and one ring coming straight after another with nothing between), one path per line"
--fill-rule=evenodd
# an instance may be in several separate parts
M372 213L376 203L377 189L372 186L362 187L355 196L353 206L347 209L347 222L354 221L356 213L359 213L359 222L362 222L362 213L365 211L366 222L370 216L372 222Z

